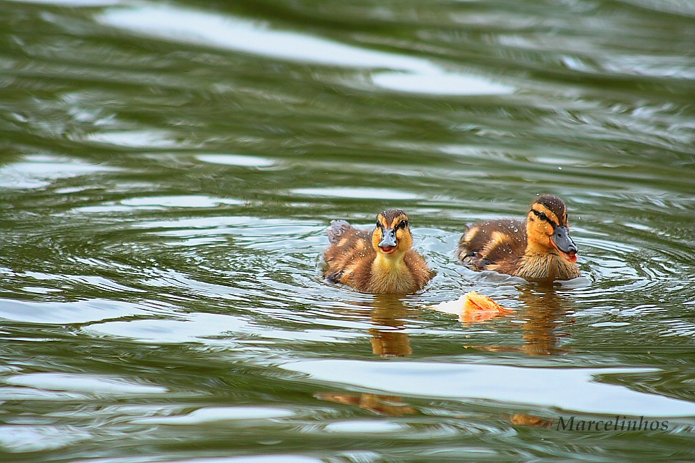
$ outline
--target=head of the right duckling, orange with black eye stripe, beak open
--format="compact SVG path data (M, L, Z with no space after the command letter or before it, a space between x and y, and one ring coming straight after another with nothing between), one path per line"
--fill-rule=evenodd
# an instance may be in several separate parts
M526 216L528 243L566 260L577 262L577 245L569 235L567 208L562 199L550 194L539 196Z

